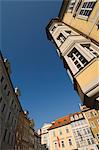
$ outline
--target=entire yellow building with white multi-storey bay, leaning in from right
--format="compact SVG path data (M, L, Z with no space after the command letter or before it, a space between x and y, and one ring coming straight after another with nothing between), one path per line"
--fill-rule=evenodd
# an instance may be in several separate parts
M63 0L46 33L82 103L99 109L99 1Z

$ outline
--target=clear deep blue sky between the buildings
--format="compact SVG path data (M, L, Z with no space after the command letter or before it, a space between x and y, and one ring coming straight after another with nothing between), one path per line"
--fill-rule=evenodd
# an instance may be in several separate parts
M61 2L2 1L0 48L11 62L14 87L20 88L21 104L36 128L79 111L80 99L45 32Z

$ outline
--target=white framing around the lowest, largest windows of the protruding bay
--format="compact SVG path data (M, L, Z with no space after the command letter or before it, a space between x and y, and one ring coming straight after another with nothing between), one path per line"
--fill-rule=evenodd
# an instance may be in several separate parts
M85 46L83 47L82 45L90 44L89 49ZM92 59L96 58L99 55L99 48L95 44L89 42L89 43L76 43L69 51L68 53L64 56L68 66L70 67L73 75L78 73L80 71L80 68L77 67L77 64L74 64L74 61L72 60L71 57L69 57L69 53L73 50L73 48L76 48L77 51L88 61L90 62ZM92 49L92 51L90 50ZM94 54L97 53L97 56ZM75 54L73 54L75 59L79 62L82 68L85 67L86 64L83 64L82 61L79 60L79 57L77 57Z

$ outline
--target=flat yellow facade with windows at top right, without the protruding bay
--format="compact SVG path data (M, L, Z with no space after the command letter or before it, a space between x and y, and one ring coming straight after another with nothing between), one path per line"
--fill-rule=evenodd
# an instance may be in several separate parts
M63 0L59 19L78 32L99 42L98 0Z

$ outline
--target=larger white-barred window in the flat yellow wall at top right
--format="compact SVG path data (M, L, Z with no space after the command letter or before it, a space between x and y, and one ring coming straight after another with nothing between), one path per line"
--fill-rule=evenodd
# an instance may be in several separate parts
M90 15L90 13L92 12L92 9L93 9L95 3L96 3L95 0L93 0L93 1L92 1L92 0L90 0L90 1L87 1L87 0L86 0L86 1L83 3L83 5L82 5L82 8L81 8L81 10L80 10L79 15L88 18L89 15Z

